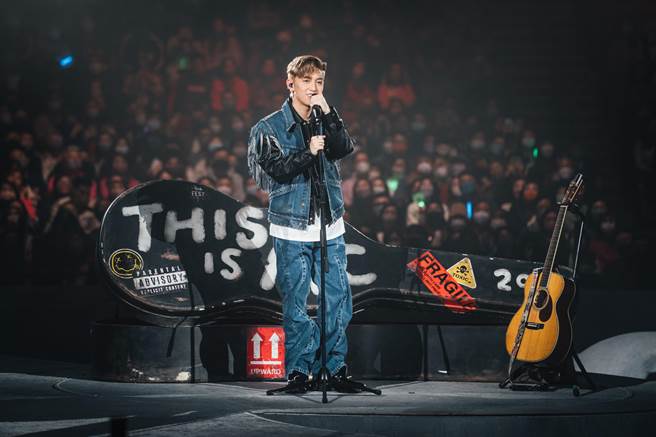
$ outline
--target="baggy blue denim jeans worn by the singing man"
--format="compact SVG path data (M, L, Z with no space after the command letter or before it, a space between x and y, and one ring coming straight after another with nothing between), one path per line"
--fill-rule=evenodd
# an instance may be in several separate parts
M285 331L285 369L306 375L321 370L320 328L306 310L310 279L321 289L321 244L273 238L276 253L276 286L282 297ZM353 314L351 286L346 274L344 235L327 241L326 367L334 375L342 366L348 344L346 327Z

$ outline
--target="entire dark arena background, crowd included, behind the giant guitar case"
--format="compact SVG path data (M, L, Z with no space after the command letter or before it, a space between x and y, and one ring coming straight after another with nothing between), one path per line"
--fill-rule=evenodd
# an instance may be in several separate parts
M3 2L0 281L98 284L102 215L139 182L188 179L265 206L245 167L248 130L286 98L287 63L312 53L328 62L326 97L358 141L342 176L346 219L362 232L542 260L580 171L585 283L647 288L655 9ZM570 219L566 237L573 229ZM560 256L571 262L571 245Z

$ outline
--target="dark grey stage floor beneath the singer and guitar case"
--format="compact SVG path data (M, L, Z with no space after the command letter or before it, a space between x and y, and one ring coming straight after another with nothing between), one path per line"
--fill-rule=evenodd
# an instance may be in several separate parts
M495 383L369 381L373 394L266 396L280 383L128 384L86 366L0 356L0 436L655 435L656 381L598 380L597 392L513 392Z

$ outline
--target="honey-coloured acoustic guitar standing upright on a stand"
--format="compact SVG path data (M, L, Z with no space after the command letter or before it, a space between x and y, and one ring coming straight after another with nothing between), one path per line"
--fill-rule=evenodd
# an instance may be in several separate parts
M572 345L570 306L576 287L574 281L554 271L554 260L563 231L567 209L583 185L581 174L570 182L551 235L542 268L534 269L524 286L524 301L506 330L506 350L510 355L508 374L515 360L528 363L562 362Z

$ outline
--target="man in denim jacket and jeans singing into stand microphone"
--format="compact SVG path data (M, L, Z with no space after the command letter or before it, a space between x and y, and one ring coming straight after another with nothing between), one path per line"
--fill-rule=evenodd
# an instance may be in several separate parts
M282 297L287 393L304 393L321 369L320 330L306 311L310 280L321 287L320 214L325 214L326 367L329 385L349 391L346 327L351 320L351 287L346 273L344 200L337 161L353 151L343 121L323 96L326 63L316 56L294 58L287 66L289 98L282 108L253 126L248 167L269 193L270 235L276 254L276 286ZM312 133L318 105L325 135ZM320 154L319 151L324 153ZM319 203L319 159L323 160L327 208Z

